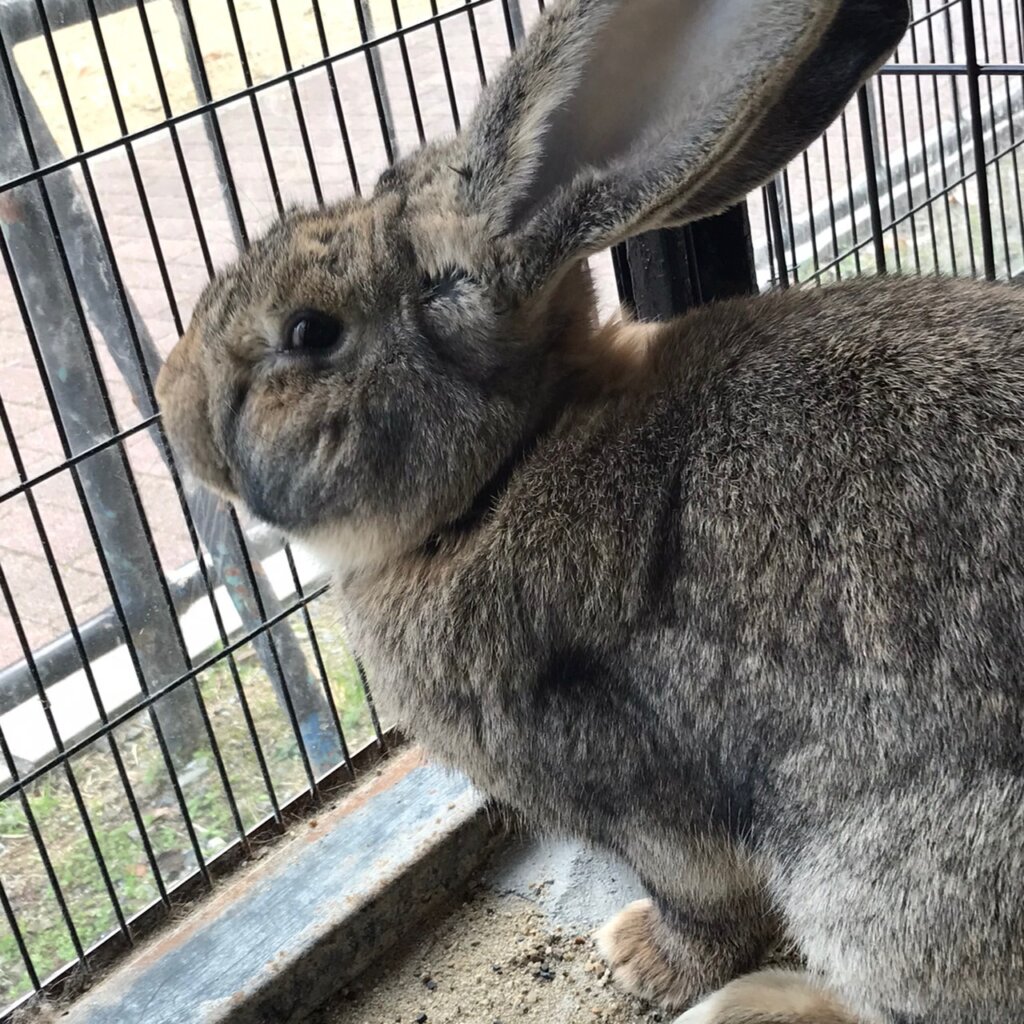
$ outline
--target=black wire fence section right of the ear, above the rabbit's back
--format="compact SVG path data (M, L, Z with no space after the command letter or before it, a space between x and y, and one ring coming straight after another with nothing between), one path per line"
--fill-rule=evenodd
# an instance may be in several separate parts
M1022 18L1012 0L914 0L890 63L752 199L762 283L1024 270Z

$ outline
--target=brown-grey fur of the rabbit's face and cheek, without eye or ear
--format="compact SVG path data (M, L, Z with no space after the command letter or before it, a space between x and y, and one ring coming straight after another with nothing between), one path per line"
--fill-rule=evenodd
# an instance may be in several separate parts
M503 324L479 225L442 198L286 216L205 291L158 384L195 473L348 566L461 516L550 403L544 331L528 308ZM561 337L592 306L578 268L545 308ZM337 316L336 351L278 350L303 308Z

